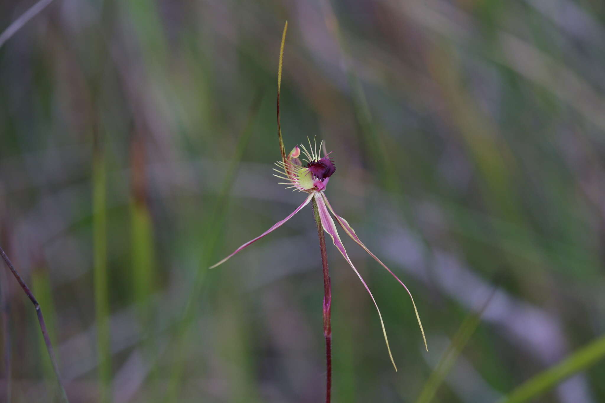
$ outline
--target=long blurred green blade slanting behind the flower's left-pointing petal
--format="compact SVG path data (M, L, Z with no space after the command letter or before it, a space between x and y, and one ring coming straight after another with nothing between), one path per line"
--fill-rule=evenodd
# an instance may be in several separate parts
M204 227L204 234L202 236L203 251L200 258L200 267L197 269L194 286L185 305L183 317L178 323L177 330L175 331L175 338L178 340L178 345L174 356L174 365L170 375L168 393L166 394L165 399L166 402L178 401L178 388L183 377L183 357L185 356L184 347L186 345L186 336L188 335L188 330L193 319L194 303L201 293L204 279L206 278L206 273L208 272L208 268L210 266L209 262L212 258L212 253L214 252L214 248L217 243L217 230L224 222L227 211L227 199L229 198L229 193L231 192L231 188L235 182L237 168L240 165L240 161L244 156L248 141L252 135L252 128L254 126L255 118L257 117L258 109L261 106L262 100L262 93L258 91L257 95L252 101L252 105L250 106L250 111L246 119L244 130L238 140L237 146L235 147L235 155L231 161L229 169L227 169L220 195L212 208L212 213L209 215L209 223L206 225L206 227Z

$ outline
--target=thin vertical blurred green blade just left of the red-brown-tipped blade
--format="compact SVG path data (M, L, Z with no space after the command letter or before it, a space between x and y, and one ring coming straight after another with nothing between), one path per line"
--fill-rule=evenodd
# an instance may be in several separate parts
M100 402L111 401L111 346L107 272L107 173L103 152L93 157L94 303L99 359Z

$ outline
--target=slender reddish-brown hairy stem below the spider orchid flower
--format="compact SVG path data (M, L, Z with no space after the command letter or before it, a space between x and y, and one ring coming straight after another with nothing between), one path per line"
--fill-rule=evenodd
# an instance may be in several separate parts
M330 403L332 394L332 325L330 324L332 305L332 287L330 286L330 271L328 269L328 254L325 251L324 228L319 218L317 202L313 198L313 216L317 225L319 249L321 250L321 265L324 272L324 337L325 337L325 403Z

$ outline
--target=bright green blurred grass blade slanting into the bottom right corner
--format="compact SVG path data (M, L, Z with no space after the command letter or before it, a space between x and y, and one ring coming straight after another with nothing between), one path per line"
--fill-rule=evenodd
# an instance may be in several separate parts
M581 370L596 364L605 357L605 335L587 346L577 350L561 363L535 375L503 398L500 403L522 403L535 398L541 393L574 375Z

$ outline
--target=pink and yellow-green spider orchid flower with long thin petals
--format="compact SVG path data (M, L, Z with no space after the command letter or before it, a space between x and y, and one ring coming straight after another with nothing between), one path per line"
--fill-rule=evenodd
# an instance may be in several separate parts
M287 28L287 23L286 23L286 28ZM397 277L393 273L393 271L391 271L391 269L389 269L387 267L387 265L382 263L382 261L380 259L378 259L378 257L376 257L376 255L374 255L364 245L363 242L361 242L359 237L356 235L355 230L353 230L353 228L348 224L348 222L344 218L342 218L341 216L336 214L334 209L332 208L332 205L330 205L330 202L328 201L327 197L325 196L325 189L327 187L328 182L330 181L330 177L336 172L336 166L333 162L333 158L330 156L330 153L325 152L325 145L324 145L323 141L319 144L319 150L323 150L324 156L321 156L320 153L318 152L318 148L316 147L315 140L313 141L313 146L312 146L311 141L309 139L307 139L309 141L309 149L307 149L307 147L305 147L302 144L301 144L301 146L295 146L292 149L292 151L290 151L290 153L288 153L288 154L286 154L286 151L284 149L284 143L283 143L283 138L281 135L281 127L280 127L280 86L281 86L281 65L282 65L282 57L283 57L283 49L284 49L284 39L286 36L286 28L284 28L284 36L283 36L282 42L281 42L280 65L279 65L279 69L278 69L278 93L277 93L278 140L280 142L280 151L281 151L282 159L281 159L281 161L277 161L275 163L275 165L278 168L277 169L274 168L273 170L278 172L278 174L273 174L273 175L276 176L277 178L283 179L284 182L278 182L278 183L287 185L286 189L293 189L292 190L293 192L298 190L298 192L307 193L307 198L302 202L301 205L296 207L296 209L294 211L292 211L292 213L290 213L289 216L287 216L286 218L284 218L281 221L276 222L275 225L273 225L273 227L269 228L269 230L265 231L260 236L255 237L254 239L249 240L248 242L241 245L241 247L237 248L229 256L225 257L220 262L211 266L211 269L217 267L218 265L223 264L224 262L229 260L232 256L239 253L244 248L249 247L249 245L252 245L252 243L257 242L257 240L263 238L267 234L272 233L277 228L280 228L282 225L284 225L284 223L286 223L290 218L292 218L294 216L294 214L298 213L298 211L300 211L303 207L305 207L307 204L309 204L309 202L311 202L312 199L315 199L315 202L317 205L317 210L319 213L319 218L321 219L321 225L322 225L324 231L330 235L334 245L342 254L342 257L344 257L344 259L347 261L348 265L350 265L351 268L353 269L353 271L355 271L355 274L359 277L359 280L361 280L361 283L364 286L365 290L368 292L368 294L370 294L370 298L373 301L374 306L376 306L376 311L378 311L378 317L380 318L380 322L381 322L382 334L384 335L384 340L385 340L385 343L387 344L388 355L390 356L393 367L395 368L395 370L397 370L397 366L395 365L393 355L391 353L391 349L388 344L387 330L385 329L384 321L382 320L382 315L381 315L380 309L378 308L378 304L376 303L376 300L374 299L374 296L372 295L367 283L365 282L365 280L363 279L361 274L359 274L359 271L355 268L355 265L353 265L353 262L350 259L350 257L348 257L347 251L345 250L344 244L342 243L342 240L338 234L338 230L336 229L336 224L335 224L334 220L332 219L332 216L336 219L336 222L338 222L338 225L340 225L342 230L344 230L344 232L349 237L351 237L351 239L353 239L360 247L362 247L368 254L370 254L370 256L374 260L376 260L376 262L378 262L379 265L381 265L382 267L387 269L387 271L391 274L391 276L393 276L397 280L397 282L399 282L405 288L405 291L407 291L408 295L410 295L412 306L414 308L414 313L416 314L416 319L420 326L420 332L422 332L422 338L424 340L425 348L427 348L427 351L428 351L427 340L426 340L426 337L424 334L424 329L422 328L422 323L420 322L420 316L418 314L418 310L416 309L416 304L414 303L414 298L412 297L410 290L399 279L399 277ZM304 157L304 158L301 159L300 157ZM330 213L332 213L332 214L330 214Z

